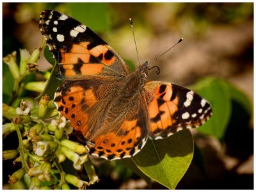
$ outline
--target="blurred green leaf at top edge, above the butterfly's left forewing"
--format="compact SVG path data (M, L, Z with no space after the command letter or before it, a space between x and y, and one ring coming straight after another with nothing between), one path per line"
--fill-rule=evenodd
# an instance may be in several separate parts
M108 3L67 3L67 10L95 32L110 30Z

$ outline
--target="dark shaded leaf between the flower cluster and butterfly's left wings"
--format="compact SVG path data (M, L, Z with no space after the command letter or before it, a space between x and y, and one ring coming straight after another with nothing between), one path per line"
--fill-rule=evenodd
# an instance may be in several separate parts
M38 100L41 99L42 95L45 95L45 94L49 96L50 100L54 98L54 93L56 92L58 86L60 86L61 84L60 80L56 78L57 70L58 70L58 64L56 63L52 68L51 77L47 81L44 91L38 97L36 97L36 99Z

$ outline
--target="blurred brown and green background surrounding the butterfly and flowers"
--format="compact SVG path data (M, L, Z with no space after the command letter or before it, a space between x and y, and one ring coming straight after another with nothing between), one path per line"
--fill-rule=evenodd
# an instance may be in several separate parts
M219 77L241 90L253 109L253 3L3 3L3 56L40 45L38 22L44 9L67 13L88 26L134 63L130 68L138 66L130 17L140 63L154 60L183 37L152 63L161 73L152 70L148 79L190 86L202 77ZM42 71L51 68L43 54L38 64ZM3 65L3 75L7 69ZM3 101L8 102L4 86ZM177 189L253 189L253 115L236 129L232 118L239 115L231 115L223 140L192 131L203 168L193 161ZM100 182L90 189L165 189L157 182L148 186L118 161L95 166Z

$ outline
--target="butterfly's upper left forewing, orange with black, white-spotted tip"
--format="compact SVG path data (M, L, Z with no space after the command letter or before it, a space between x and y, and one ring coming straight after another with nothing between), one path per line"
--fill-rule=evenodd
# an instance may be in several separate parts
M81 22L44 10L39 28L65 79L118 79L129 74L122 58Z

